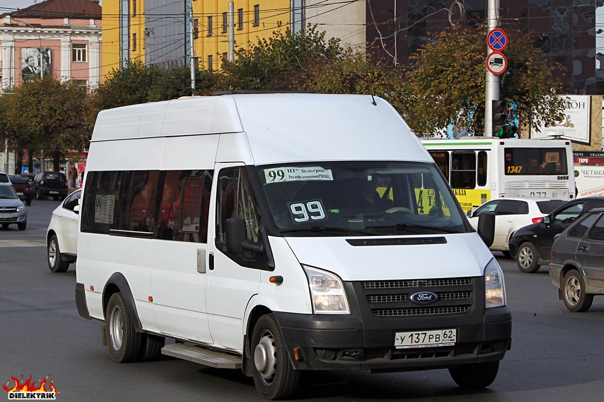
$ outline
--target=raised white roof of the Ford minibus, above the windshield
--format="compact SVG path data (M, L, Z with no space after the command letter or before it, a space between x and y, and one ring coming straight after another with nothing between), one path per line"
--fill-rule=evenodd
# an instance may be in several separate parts
M399 113L371 95L247 93L103 110L91 142L245 133L256 164L294 160L432 162Z

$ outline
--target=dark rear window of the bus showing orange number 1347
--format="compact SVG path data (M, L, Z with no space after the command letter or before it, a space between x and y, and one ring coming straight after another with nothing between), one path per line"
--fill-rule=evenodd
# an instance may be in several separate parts
M568 175L564 148L506 147L504 155L506 175Z

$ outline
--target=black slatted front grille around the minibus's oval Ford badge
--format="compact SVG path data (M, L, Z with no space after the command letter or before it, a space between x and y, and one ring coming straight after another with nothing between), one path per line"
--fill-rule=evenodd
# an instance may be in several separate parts
M472 310L477 278L364 281L361 286L377 317L452 315ZM432 304L414 303L411 295L418 292L431 292L438 298Z

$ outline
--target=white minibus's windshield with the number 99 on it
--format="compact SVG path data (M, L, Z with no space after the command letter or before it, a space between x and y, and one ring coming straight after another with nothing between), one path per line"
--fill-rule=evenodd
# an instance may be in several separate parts
M314 162L259 166L284 236L472 231L442 175L422 162Z

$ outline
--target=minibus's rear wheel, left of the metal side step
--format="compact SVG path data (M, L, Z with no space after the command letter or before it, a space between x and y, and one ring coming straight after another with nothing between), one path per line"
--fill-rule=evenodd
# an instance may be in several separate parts
M109 355L115 362L127 363L140 359L144 334L135 330L120 292L112 294L109 298L105 310L105 336Z

